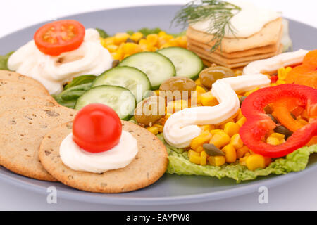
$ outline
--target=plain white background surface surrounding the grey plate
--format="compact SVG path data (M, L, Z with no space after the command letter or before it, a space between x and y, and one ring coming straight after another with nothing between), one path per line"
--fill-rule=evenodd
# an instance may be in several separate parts
M249 0L251 1L251 0ZM316 0L253 0L256 4L282 11L287 18L317 27ZM64 15L106 8L156 4L185 4L183 0L11 0L1 4L0 37ZM304 34L303 34L304 35ZM317 37L316 37L317 41ZM0 46L1 47L1 46ZM296 181L269 189L269 203L259 204L259 193L250 193L228 200L191 205L156 207L124 207L77 203L58 198L57 204L47 204L46 196L23 188L0 184L0 210L317 210L317 172Z

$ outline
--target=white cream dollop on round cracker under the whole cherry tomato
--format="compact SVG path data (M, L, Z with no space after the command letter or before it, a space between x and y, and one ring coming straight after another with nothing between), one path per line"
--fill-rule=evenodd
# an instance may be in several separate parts
M63 164L77 171L103 173L126 167L137 155L137 140L127 131L122 131L118 145L102 153L89 153L73 141L73 133L61 142L59 153Z

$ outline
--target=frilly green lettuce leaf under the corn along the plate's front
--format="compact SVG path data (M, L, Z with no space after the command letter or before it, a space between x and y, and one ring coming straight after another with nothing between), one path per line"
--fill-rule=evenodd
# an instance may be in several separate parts
M264 169L256 169L251 171L247 167L240 165L238 162L221 167L211 165L196 165L189 162L187 152L180 148L168 145L163 138L163 134L157 135L166 145L168 150L168 174L178 175L200 175L200 176L216 176L218 179L229 177L235 179L237 183L256 179L257 176L268 176L269 174L287 174L289 172L298 172L306 168L309 162L309 155L317 153L317 145L303 147L290 153L285 158L278 158Z

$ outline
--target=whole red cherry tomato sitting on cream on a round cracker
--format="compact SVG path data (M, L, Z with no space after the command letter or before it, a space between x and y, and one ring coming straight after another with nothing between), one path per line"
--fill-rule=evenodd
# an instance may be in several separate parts
M90 153L100 153L116 146L122 132L116 112L103 104L86 105L75 116L73 141Z

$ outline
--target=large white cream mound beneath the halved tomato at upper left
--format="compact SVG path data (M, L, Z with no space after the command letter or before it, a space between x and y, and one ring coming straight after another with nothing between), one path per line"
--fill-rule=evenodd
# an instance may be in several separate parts
M41 82L49 94L59 94L63 84L80 75L100 75L112 67L113 59L100 43L97 30L87 29L78 49L49 56L29 41L8 58L8 68Z

